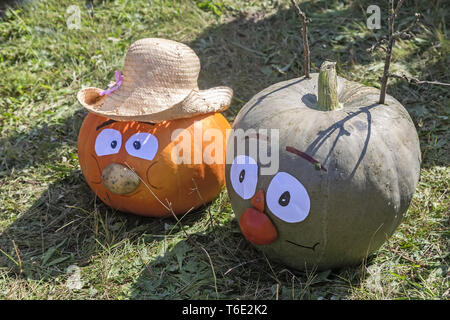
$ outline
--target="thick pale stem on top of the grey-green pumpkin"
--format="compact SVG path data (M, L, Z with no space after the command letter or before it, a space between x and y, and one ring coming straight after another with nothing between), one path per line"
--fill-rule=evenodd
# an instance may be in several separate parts
M323 111L341 109L337 94L336 62L324 61L320 66L317 107Z

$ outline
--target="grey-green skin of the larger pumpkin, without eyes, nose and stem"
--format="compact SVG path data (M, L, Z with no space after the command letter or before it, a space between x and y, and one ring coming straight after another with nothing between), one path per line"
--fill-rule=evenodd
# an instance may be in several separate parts
M233 129L279 129L279 150L271 152L280 154L279 172L305 187L310 210L303 221L288 223L265 203L278 238L255 246L301 270L358 264L377 250L407 211L421 163L416 129L396 99L388 95L386 105L379 105L379 90L338 77L343 108L319 111L317 78L316 73L311 79L266 88L241 109L233 124ZM287 151L293 148L322 167ZM229 153L236 155L236 149L228 148ZM234 190L230 167L227 164L226 183L239 222L252 203ZM263 190L265 198L273 177L258 175L256 190Z

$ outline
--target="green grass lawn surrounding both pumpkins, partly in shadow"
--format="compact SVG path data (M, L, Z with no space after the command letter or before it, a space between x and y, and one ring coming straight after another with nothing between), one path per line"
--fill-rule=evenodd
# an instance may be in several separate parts
M261 89L303 74L289 1L86 3L0 8L0 298L449 299L448 87L389 82L388 93L416 124L423 158L416 195L393 237L361 266L298 272L244 240L226 191L181 223L106 207L85 183L76 147L86 115L77 91L105 87L140 38L190 45L202 62L200 87L234 89L230 122ZM73 4L80 30L66 26ZM312 18L313 71L334 59L339 75L379 86L383 52L365 50L386 34L386 19L382 30L367 30L368 4L302 2ZM449 9L439 0L404 4L400 25L416 11L423 17L417 35L397 43L394 71L450 82ZM67 285L71 265L81 288Z

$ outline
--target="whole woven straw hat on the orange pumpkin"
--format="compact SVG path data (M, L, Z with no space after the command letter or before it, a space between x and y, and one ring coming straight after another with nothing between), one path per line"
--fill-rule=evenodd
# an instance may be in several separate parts
M227 109L233 90L199 90L199 72L200 60L188 46L141 39L130 46L115 88L85 88L77 98L90 112L118 121L161 122Z

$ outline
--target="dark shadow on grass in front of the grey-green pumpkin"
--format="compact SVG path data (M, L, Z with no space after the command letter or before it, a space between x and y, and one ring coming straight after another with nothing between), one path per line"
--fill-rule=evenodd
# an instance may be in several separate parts
M190 233L149 259L130 299L345 299L367 277L363 265L316 272L269 261L232 221Z

